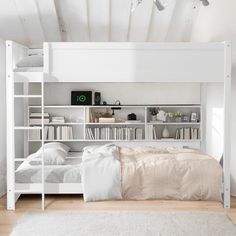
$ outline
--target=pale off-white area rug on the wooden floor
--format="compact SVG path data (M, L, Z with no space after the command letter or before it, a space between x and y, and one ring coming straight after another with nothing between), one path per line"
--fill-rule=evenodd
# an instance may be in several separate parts
M224 213L42 212L27 213L11 236L231 236L236 226Z

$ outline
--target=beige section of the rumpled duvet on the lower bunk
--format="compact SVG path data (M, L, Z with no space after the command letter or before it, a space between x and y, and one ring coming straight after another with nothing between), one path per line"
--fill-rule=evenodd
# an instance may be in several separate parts
M222 168L193 149L120 148L124 199L218 200Z

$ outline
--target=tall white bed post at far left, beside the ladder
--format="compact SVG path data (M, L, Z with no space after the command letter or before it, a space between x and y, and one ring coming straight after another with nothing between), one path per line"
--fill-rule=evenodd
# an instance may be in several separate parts
M6 41L7 89L7 209L15 210L14 77L12 42Z

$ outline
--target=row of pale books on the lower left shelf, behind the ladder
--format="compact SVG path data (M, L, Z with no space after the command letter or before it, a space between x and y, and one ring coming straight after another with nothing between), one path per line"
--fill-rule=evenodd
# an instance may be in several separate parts
M41 140L42 132L39 129L29 131L29 140ZM71 126L46 126L44 127L45 140L71 140L73 130Z

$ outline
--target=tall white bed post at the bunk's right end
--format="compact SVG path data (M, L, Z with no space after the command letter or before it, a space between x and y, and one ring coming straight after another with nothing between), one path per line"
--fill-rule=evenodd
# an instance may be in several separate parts
M224 208L230 208L231 43L224 42Z

